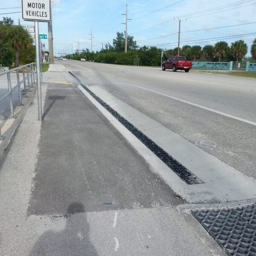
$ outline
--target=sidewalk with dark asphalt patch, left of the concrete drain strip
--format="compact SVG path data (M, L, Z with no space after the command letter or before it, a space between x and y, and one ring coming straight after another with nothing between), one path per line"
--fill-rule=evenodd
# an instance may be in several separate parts
M225 255L61 64L0 160L0 255Z

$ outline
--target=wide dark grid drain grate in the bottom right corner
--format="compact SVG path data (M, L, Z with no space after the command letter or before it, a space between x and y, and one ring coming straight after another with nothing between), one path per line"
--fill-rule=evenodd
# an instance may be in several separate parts
M256 205L191 211L229 256L256 256Z

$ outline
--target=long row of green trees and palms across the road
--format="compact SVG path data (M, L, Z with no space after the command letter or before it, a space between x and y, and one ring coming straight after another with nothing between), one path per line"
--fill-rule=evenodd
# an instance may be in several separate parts
M87 61L95 61L100 63L121 64L121 65L134 65L134 59L139 59L140 66L160 66L161 51L157 47L138 47L137 42L134 41L133 36L128 35L128 49L125 53L125 32L117 32L116 38L113 39L113 44L105 44L99 52L90 52L89 49L83 49L81 52L73 54L73 59L80 60L86 58ZM105 49L103 49L105 48ZM213 45L206 45L203 48L200 45L184 45L180 48L180 55L185 56L191 61L210 61L210 62L238 62L256 60L256 39L250 47L252 58L245 58L248 46L243 40L231 43L229 46L227 42L220 41ZM171 55L177 55L178 48L164 49L163 60ZM70 55L66 55L70 58Z

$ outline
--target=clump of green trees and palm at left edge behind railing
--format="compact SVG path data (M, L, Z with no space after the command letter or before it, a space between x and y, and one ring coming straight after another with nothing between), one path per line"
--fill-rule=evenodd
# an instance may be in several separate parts
M11 18L0 21L0 64L18 67L35 61L33 38L22 26L14 25Z

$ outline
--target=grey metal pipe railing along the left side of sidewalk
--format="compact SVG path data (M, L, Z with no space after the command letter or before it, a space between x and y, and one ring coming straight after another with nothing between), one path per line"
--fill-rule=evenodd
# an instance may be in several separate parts
M19 70L22 70L22 76L23 79L20 81L20 72ZM17 76L17 84L12 87L11 83L11 76L10 73L16 73ZM21 84L24 86L24 98L27 98L27 91L31 91L31 87L33 87L33 84L35 84L36 81L36 65L35 63L30 63L26 64L20 67L16 67L11 70L3 71L0 73L0 76L7 75L7 82L8 82L8 92L4 94L3 96L0 96L0 102L5 99L6 97L9 96L9 101L10 101L10 110L11 110L11 115L9 116L9 119L15 119L17 116L14 115L14 108L13 108L13 102L12 102L12 93L18 89L18 94L19 94L19 100L20 104L19 106L23 106L22 103L22 96L21 96ZM26 84L27 82L27 84ZM28 87L27 87L28 85ZM1 127L0 127L0 140L4 140L5 136L1 134Z

